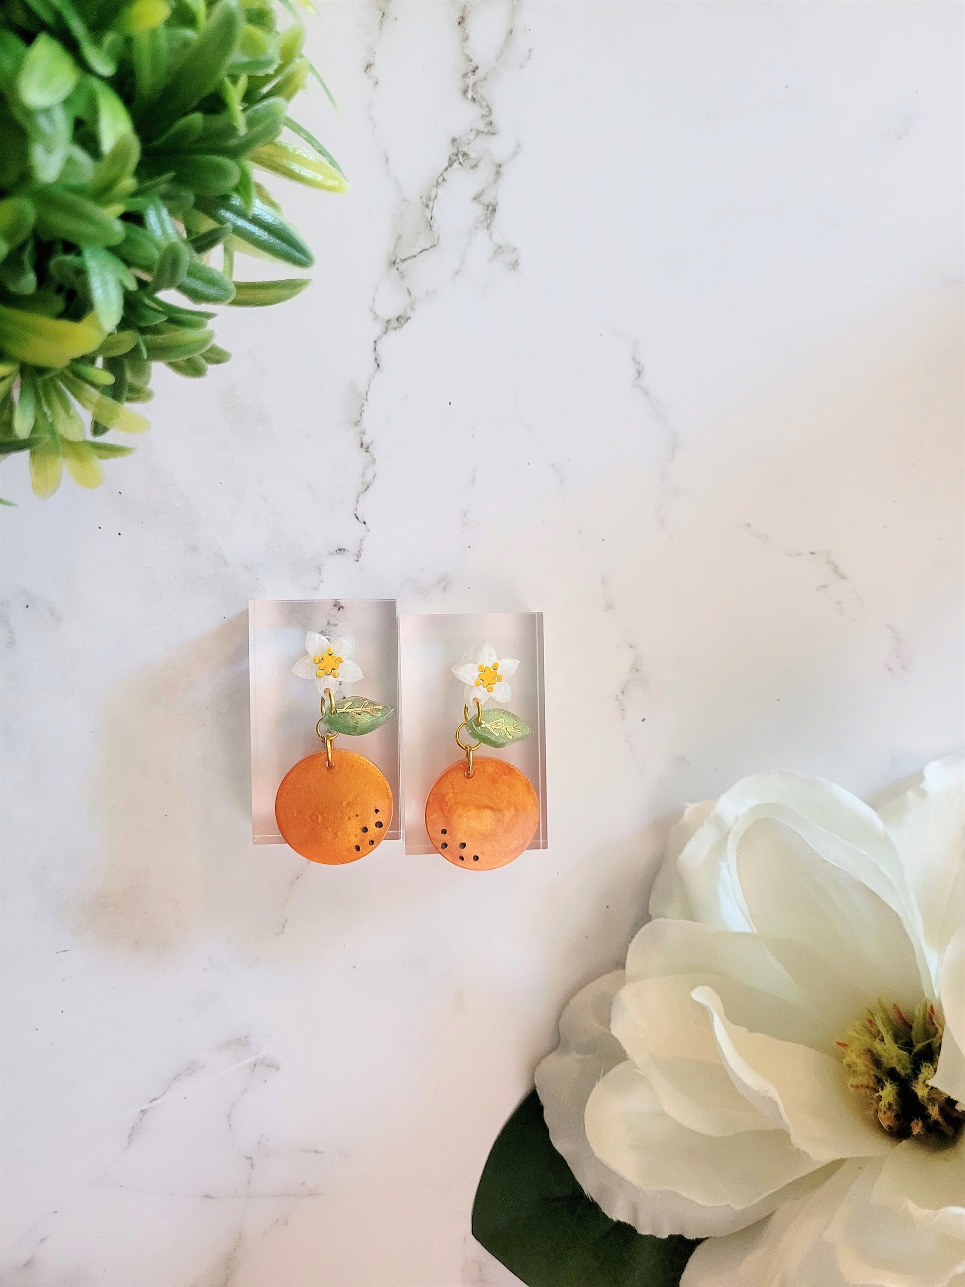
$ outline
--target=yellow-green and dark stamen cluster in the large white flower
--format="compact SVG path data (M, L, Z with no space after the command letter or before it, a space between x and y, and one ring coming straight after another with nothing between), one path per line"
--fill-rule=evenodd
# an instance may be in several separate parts
M867 1100L881 1129L896 1139L953 1139L965 1122L965 1106L930 1085L943 1032L930 1001L921 1001L911 1019L898 1005L879 1001L836 1042L844 1051L849 1089Z

